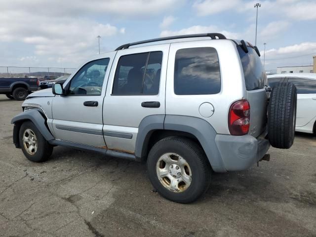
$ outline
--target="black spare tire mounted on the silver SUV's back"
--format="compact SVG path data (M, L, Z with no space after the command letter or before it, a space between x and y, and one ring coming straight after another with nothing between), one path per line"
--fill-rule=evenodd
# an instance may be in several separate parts
M268 109L268 137L273 147L288 149L293 145L296 103L294 84L279 82L272 89Z

